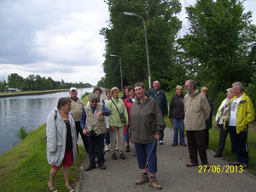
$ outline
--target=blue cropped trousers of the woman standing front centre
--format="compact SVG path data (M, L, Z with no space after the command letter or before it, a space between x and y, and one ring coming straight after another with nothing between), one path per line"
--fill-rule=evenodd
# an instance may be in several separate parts
M134 142L135 150L137 152L137 164L140 169L145 168L152 145L153 143L137 144L136 142ZM156 157L156 147L155 147L155 149L152 151L150 161L148 162L148 172L151 172L151 173L157 172L156 164L157 164L157 157Z

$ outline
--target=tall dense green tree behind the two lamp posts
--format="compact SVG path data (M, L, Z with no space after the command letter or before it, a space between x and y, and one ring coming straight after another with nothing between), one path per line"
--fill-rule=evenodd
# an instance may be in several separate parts
M143 20L124 12L136 13L146 22L151 78L171 80L175 38L181 28L181 21L175 14L181 11L181 4L177 0L106 2L110 21L108 27L101 31L106 40L106 59L103 63L106 86L120 88L119 58L110 54L119 55L122 59L124 86L148 80Z

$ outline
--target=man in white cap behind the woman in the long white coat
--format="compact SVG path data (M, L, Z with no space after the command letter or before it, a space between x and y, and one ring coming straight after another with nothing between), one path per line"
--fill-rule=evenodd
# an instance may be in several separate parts
M89 154L90 149L88 144L88 138L86 135L83 134L83 130L81 129L81 126L80 126L80 119L82 116L82 111L84 109L84 102L82 101L82 99L78 98L77 88L70 88L69 95L71 99L71 113L73 114L73 118L76 124L77 138L79 138L79 133L80 133L84 143L84 149Z

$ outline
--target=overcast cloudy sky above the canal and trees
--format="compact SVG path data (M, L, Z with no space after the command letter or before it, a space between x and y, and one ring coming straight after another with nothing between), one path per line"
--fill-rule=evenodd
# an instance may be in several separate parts
M256 1L247 0L244 7L254 12L255 24ZM0 80L18 73L96 85L104 76L105 42L99 31L108 20L103 0L0 0ZM183 22L179 35L187 27Z

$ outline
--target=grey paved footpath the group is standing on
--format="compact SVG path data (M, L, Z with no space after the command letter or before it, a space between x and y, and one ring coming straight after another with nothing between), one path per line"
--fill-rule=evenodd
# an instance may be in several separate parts
M166 128L164 145L157 144L158 172L156 178L162 185L161 191L256 191L256 179L247 171L227 172L230 170L229 162L222 158L213 158L212 150L207 150L208 161L212 166L224 167L224 172L214 172L212 167L209 172L204 172L200 167L186 167L189 162L189 151L181 145L172 147L173 132ZM83 172L82 182L76 191L155 191L148 183L136 185L140 178L141 170L137 167L137 158L132 156L134 150L125 152L125 160L119 158L112 160L111 152L106 152L104 165L106 170L100 168ZM199 162L200 158L199 158ZM85 167L89 165L88 158ZM201 172L200 172L201 170Z

